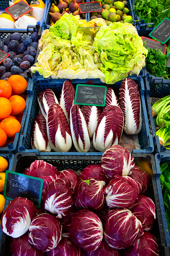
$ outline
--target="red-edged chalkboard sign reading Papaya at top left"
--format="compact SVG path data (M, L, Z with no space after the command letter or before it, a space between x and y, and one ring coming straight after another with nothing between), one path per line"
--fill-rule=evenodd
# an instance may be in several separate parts
M33 8L24 1L19 1L18 3L13 4L5 9L5 11L9 13L14 19L18 19L31 10L33 10Z

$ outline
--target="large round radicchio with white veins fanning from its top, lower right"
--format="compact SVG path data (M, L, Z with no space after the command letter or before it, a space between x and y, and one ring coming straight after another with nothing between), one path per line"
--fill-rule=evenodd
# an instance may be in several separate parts
M131 211L126 208L108 211L104 238L110 247L124 249L132 246L142 234L142 224Z

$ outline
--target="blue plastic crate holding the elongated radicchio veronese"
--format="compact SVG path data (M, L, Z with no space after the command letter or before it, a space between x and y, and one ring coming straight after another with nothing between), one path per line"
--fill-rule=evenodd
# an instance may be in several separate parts
M140 99L141 99L141 106L142 106L142 128L140 133L138 134L138 140L140 144L140 150L134 149L132 153L151 153L154 150L153 146L153 139L152 135L150 134L149 131L149 123L148 123L148 117L147 117L147 111L146 111L146 105L145 105L145 98L144 98L144 83L143 79L140 77L132 77L132 79L138 84L138 88L140 91ZM25 120L25 126L23 130L23 134L20 135L19 138L19 143L18 143L18 152L38 152L38 150L33 150L30 145L30 132L31 132L31 126L34 121L35 116L38 114L39 111L39 105L36 100L37 98L37 93L39 93L42 90L45 89L52 89L54 93L56 94L56 97L59 99L60 97L60 92L62 88L62 84L66 79L50 79L50 78L42 78L40 79L39 77L35 77L31 83L30 87L30 94L33 94L32 102L30 100L30 105L28 109L28 114L27 118ZM93 81L94 84L96 85L106 85L102 83L99 79L90 79ZM76 86L76 84L84 84L89 79L82 80L82 79L75 79L72 80L73 86ZM116 93L119 92L119 88L121 85L122 81L117 82L112 85L113 89L115 90ZM28 92L29 93L29 92ZM103 153L95 151L94 147L90 147L90 151L87 153L78 153L74 147L71 148L69 152L61 152L61 153L56 153L56 152L41 152L41 155L51 155L51 154L61 154L61 155L91 155L91 154L96 154L96 155L102 155Z

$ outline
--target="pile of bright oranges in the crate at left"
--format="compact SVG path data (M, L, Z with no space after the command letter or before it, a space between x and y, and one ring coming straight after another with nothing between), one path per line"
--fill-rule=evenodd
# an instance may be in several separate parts
M14 142L15 134L21 129L25 109L27 81L19 75L0 80L0 147Z

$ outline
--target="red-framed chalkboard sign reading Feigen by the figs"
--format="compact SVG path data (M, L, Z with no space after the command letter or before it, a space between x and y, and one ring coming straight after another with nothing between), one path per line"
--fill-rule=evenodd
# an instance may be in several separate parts
M90 2L78 4L81 13L91 13L91 12L102 12L102 7L100 2Z

